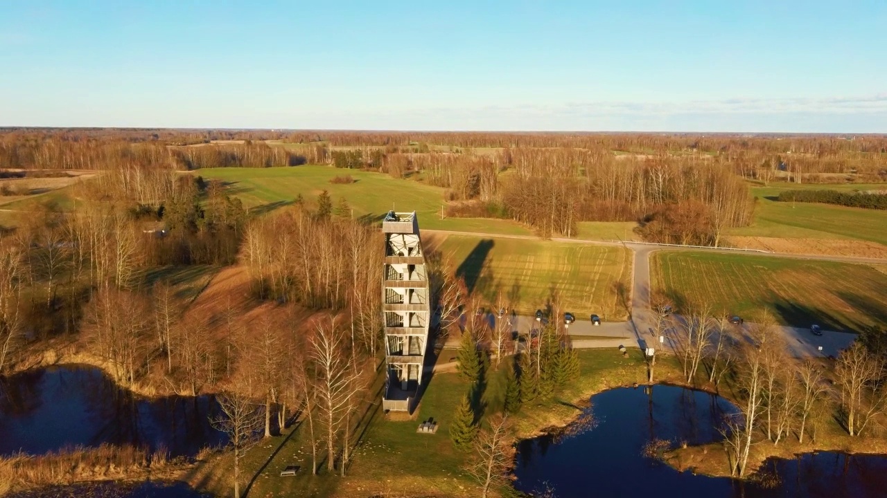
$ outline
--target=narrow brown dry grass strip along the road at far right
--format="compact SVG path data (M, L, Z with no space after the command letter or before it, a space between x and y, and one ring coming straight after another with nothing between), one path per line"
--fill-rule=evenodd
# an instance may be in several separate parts
M887 259L887 245L865 240L734 236L726 237L726 242L734 247L760 249L771 253Z

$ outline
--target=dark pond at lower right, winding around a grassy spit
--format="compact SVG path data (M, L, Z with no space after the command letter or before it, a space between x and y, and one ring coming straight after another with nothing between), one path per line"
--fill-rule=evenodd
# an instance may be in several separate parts
M774 459L765 463L765 469L777 473L781 484L770 489L675 471L643 455L651 440L690 445L719 440L717 426L732 411L734 407L723 398L669 385L597 394L585 410L594 421L590 428L572 436L520 443L514 485L528 493L553 489L560 498L887 496L887 457L879 455L819 453L796 460Z

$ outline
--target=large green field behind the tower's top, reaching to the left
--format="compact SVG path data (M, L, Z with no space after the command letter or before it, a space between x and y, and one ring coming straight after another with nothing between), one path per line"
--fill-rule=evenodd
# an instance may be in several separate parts
M391 209L415 211L420 228L428 230L455 230L530 235L530 230L517 222L481 218L441 219L444 189L414 180L392 178L389 175L341 169L328 166L296 167L216 167L196 172L204 178L222 180L243 200L245 206L258 212L286 206L302 194L314 205L321 191L329 191L334 205L339 198L348 200L354 215L381 217ZM336 176L350 175L355 183L330 183Z

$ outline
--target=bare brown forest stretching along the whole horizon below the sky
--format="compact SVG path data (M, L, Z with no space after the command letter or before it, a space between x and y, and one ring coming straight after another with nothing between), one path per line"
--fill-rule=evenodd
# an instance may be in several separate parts
M106 170L141 205L176 171L328 164L447 190L448 215L522 222L543 237L577 222L637 221L648 240L718 245L750 223L746 180L887 182L887 136L8 129L0 167ZM164 193L166 192L166 193Z

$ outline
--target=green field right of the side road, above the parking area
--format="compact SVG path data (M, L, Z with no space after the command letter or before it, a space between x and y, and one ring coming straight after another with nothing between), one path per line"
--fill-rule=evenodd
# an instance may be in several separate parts
M654 253L652 260L655 289L676 301L707 301L717 313L748 318L769 310L781 323L827 330L887 326L884 268L690 252Z

